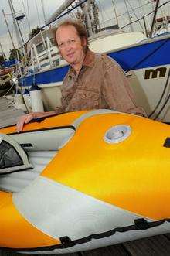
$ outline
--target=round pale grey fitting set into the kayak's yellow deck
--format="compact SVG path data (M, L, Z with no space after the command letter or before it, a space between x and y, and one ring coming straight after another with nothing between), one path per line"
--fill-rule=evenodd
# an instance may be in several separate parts
M131 127L129 125L114 125L106 131L104 141L113 144L123 142L131 135Z

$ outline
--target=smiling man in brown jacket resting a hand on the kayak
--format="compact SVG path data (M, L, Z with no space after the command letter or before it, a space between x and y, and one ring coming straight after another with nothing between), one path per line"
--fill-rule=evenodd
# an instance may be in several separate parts
M61 107L22 116L17 131L22 131L23 125L34 118L67 111L109 108L145 115L134 103L124 71L105 54L90 51L86 29L80 23L70 20L61 23L56 29L56 44L60 55L70 64L61 89Z

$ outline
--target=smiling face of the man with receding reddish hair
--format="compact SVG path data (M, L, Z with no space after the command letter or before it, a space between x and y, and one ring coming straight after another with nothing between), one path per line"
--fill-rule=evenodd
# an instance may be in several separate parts
M70 65L77 65L84 57L83 46L86 46L86 39L80 39L74 26L61 26L56 31L56 41L59 53Z

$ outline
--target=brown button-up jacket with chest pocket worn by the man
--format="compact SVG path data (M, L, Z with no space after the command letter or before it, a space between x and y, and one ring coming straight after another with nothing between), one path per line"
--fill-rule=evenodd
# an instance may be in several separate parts
M108 108L145 115L137 107L124 71L105 54L87 51L83 67L77 75L72 67L62 85L60 112Z

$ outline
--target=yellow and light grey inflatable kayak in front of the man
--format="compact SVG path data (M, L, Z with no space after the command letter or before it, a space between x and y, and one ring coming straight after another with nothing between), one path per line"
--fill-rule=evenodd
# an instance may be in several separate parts
M0 129L0 247L85 251L170 231L170 126L109 110Z

